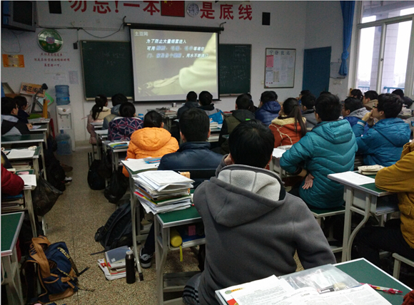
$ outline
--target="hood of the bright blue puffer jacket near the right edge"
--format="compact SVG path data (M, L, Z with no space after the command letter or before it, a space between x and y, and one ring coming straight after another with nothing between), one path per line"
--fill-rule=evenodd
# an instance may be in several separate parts
M397 147L403 147L407 143L407 139L410 138L410 126L400 118L384 118L376 123L373 128Z

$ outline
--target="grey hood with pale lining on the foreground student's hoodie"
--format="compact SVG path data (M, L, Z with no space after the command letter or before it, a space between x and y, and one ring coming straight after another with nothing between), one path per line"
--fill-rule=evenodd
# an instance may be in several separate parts
M279 177L258 167L229 165L208 183L208 209L216 222L226 227L251 222L286 200Z

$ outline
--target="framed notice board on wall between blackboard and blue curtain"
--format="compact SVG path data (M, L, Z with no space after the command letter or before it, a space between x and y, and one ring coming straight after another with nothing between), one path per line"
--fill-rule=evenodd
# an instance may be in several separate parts
M266 48L264 88L293 88L296 48Z

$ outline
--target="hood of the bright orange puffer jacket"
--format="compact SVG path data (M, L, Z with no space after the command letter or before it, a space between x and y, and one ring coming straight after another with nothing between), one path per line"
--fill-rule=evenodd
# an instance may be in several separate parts
M171 133L164 128L142 128L131 135L131 142L141 150L159 150L171 139Z

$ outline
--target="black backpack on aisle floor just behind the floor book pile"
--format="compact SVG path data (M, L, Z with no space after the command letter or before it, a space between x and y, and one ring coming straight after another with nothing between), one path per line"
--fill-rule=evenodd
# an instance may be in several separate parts
M122 246L132 246L131 204L121 205L111 214L104 227L95 233L95 241L101 242L105 251Z

